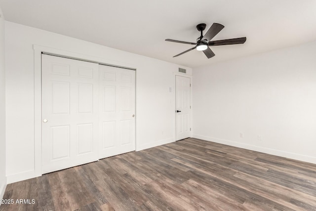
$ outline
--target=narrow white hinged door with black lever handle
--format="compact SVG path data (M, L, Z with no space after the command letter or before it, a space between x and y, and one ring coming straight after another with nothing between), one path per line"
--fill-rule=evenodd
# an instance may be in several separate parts
M176 140L191 136L191 79L176 76Z

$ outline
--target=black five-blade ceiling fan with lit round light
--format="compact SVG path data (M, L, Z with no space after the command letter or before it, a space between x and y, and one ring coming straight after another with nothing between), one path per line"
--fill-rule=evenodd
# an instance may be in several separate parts
M212 38L215 37L223 28L224 26L219 23L213 23L213 25L209 28L209 30L205 33L203 36L203 31L206 27L205 23L200 23L197 25L197 30L201 32L201 36L197 38L197 42L184 42L184 41L176 41L176 40L170 40L166 39L165 41L169 42L179 42L179 43L184 43L184 44L195 44L193 48L190 48L189 50L186 50L182 53L179 53L173 57L180 56L184 53L187 53L193 49L203 51L205 56L207 58L211 58L215 56L215 53L209 48L209 46L215 46L215 45L227 45L227 44L242 44L246 42L246 37L243 38L233 38L233 39L227 39L227 40L220 40L220 41L211 41Z

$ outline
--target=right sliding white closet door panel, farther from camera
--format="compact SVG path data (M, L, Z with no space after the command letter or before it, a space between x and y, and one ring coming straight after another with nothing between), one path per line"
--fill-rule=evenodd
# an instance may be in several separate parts
M99 66L99 158L135 150L135 71Z

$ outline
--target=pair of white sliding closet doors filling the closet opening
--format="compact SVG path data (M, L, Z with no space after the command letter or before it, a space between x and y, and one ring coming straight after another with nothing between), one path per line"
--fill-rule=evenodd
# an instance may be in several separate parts
M135 71L42 54L42 172L135 150Z

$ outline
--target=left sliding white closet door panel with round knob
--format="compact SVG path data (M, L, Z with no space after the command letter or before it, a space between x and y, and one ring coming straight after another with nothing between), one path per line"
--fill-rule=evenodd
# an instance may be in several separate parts
M42 55L42 173L98 160L98 64Z

